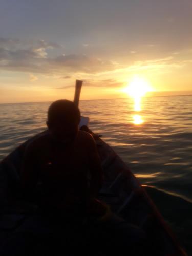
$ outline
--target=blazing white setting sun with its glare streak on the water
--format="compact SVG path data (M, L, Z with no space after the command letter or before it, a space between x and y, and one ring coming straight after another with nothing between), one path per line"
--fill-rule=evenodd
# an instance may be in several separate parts
M124 88L124 92L129 94L132 98L134 98L134 110L139 112L141 111L141 98L145 96L147 92L151 92L152 88L150 84L143 78L135 76L129 86ZM133 123L134 124L141 124L143 123L143 119L140 115L133 116Z

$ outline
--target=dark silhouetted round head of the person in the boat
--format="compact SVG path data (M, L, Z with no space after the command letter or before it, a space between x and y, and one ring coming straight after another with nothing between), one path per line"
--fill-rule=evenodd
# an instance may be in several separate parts
M48 110L47 126L51 136L58 142L70 143L78 132L80 111L69 100L54 101Z

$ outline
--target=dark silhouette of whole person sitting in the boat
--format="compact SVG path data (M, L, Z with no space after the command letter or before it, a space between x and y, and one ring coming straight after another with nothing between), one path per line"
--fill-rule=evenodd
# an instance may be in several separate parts
M80 214L102 186L102 167L94 138L80 131L80 111L69 100L57 100L48 110L48 133L32 141L25 152L22 183L26 196L42 182L40 206Z

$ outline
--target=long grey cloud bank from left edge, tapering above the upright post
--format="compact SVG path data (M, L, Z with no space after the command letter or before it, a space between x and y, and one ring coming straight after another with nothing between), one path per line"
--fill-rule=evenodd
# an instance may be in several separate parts
M113 70L114 64L82 54L50 56L48 49L61 48L44 40L20 41L0 38L0 69L30 73L61 74L63 72L94 73Z

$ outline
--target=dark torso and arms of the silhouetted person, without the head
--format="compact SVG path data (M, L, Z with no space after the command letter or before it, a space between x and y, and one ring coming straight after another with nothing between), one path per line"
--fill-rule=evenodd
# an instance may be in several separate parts
M78 131L69 145L57 144L46 134L28 146L22 181L24 187L33 189L40 179L47 200L59 204L70 196L86 198L88 173L92 176L91 195L96 193L101 183L102 169L94 139L89 133Z

